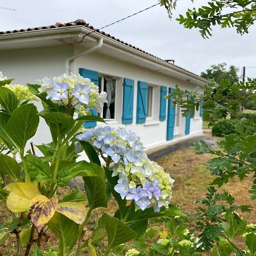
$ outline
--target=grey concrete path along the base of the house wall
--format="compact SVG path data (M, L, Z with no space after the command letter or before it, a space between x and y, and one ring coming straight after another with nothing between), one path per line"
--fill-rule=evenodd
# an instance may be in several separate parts
M204 134L188 139L183 139L182 141L177 141L176 143L155 147L151 150L147 150L146 153L150 160L156 161L158 158L161 158L164 155L168 155L176 150L179 150L180 148L192 148L190 143L199 142L201 139L210 144L212 147L216 147L216 142L220 140L220 138L212 137L210 134ZM75 179L72 179L69 182L69 186L72 188L79 188L84 191L84 181L82 180L82 177L76 177Z

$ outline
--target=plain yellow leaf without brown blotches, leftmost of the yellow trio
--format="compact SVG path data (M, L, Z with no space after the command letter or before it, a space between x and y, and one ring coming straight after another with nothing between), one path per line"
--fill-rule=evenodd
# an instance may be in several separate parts
M10 194L7 197L7 208L11 212L25 212L30 209L30 200L40 195L37 184L16 183L9 187Z

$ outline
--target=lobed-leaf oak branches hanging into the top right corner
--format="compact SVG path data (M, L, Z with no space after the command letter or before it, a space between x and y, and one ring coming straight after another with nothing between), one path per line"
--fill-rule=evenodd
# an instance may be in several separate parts
M177 0L159 0L165 6L171 18ZM193 2L193 1L192 1ZM255 0L212 0L200 8L188 9L185 15L179 15L177 21L185 28L199 28L203 38L212 36L212 26L221 28L235 27L243 35L256 20Z

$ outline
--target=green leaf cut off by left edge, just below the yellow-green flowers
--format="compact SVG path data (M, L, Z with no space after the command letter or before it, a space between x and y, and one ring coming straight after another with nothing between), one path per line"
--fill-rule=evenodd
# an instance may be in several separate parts
M13 113L14 109L17 108L18 104L19 100L15 96L15 94L11 90L1 86L0 105L2 106L2 108L5 109L7 113L11 114Z

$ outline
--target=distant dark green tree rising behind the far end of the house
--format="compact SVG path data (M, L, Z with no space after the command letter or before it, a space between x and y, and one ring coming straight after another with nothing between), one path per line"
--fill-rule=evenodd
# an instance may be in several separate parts
M201 73L201 77L205 79L214 79L218 84L225 79L228 79L231 84L239 81L237 75L238 68L235 66L230 66L229 69L226 69L226 63L220 63L217 65L211 65L205 72Z

